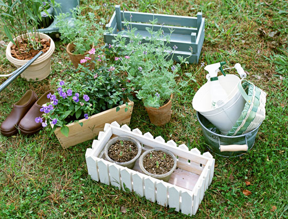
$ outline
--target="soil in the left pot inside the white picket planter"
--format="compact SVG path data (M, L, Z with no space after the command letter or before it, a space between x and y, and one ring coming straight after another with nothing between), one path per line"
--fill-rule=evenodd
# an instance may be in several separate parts
M121 144L122 142L122 144ZM130 149L131 148L131 149ZM122 155L120 156L120 152ZM137 146L130 141L120 141L117 140L113 145L108 149L108 156L115 162L124 163L131 161L138 153Z

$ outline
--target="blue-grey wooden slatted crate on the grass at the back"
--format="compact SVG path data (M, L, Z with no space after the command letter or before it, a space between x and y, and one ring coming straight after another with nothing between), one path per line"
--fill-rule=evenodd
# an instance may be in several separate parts
M176 45L178 48L174 51L173 59L178 62L177 55L188 57L191 52L189 47L192 47L193 54L189 58L189 63L198 63L202 45L204 42L204 27L205 18L202 17L202 13L198 12L197 17L189 16L176 16L176 15L165 15L165 14L152 14L152 13L141 13L134 11L121 11L120 6L115 6L115 11L111 17L109 24L106 25L106 30L112 28L112 33L104 33L104 41L106 44L112 44L112 40L117 34L122 34L123 30L127 30L124 26L124 19L130 22L130 15L132 15L131 25L132 28L136 27L137 31L143 38L150 36L147 27L152 28L150 21L153 19L158 20L157 25L153 26L153 30L162 28L164 35L169 35L170 30L173 29L171 34L170 44L167 46L172 47ZM162 24L164 25L162 26ZM129 25L130 26L130 25ZM129 42L129 37L122 34L123 37L127 38L126 43Z

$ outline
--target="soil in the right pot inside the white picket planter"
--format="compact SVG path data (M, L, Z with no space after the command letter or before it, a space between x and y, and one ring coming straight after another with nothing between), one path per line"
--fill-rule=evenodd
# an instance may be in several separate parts
M152 158L150 158L152 154ZM164 154L166 157L164 158ZM157 167L156 162L159 166ZM143 167L150 173L161 175L168 173L174 165L173 157L163 151L152 151L143 158Z

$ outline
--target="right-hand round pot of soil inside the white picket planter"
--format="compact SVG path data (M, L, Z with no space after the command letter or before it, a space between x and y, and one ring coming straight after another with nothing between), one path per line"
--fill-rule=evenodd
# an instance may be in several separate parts
M176 169L177 160L174 154L164 149L145 151L139 158L139 166L143 173L158 180L168 182Z

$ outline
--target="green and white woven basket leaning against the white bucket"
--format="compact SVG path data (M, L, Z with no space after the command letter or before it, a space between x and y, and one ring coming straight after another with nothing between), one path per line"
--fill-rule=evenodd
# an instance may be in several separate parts
M266 93L245 79L239 82L238 88L246 103L227 136L246 134L257 128L265 119Z

